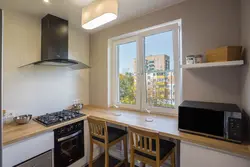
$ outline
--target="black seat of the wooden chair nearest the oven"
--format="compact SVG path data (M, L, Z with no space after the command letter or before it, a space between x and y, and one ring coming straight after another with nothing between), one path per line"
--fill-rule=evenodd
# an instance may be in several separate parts
M108 142L109 143L115 141L116 139L119 139L120 137L122 137L126 134L127 134L127 132L125 130L108 126L108 140L109 140ZM93 136L92 138L94 140L97 140L97 141L102 142L102 143L105 142L104 139L98 138L96 136Z

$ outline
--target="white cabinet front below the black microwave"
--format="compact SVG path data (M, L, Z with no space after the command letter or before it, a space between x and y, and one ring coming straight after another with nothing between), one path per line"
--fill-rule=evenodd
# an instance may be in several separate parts
M180 167L250 167L250 159L181 142Z

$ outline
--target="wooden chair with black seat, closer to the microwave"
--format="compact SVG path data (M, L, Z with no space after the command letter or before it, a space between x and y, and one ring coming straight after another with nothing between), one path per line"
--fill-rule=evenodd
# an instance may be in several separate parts
M153 167L160 167L171 156L171 167L175 167L175 144L162 140L159 133L129 127L130 167L135 159Z

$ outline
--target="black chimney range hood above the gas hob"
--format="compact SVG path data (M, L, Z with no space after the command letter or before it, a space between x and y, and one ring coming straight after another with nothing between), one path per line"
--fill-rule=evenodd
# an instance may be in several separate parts
M41 61L28 65L66 66L74 70L90 68L88 65L68 59L68 21L53 15L42 19Z

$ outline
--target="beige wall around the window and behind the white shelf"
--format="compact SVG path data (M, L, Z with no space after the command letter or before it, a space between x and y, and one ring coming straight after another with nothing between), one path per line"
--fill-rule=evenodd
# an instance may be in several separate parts
M188 0L91 35L90 103L108 104L108 39L176 19L183 22L183 56L240 44L240 1ZM241 103L240 68L183 71L183 99Z

